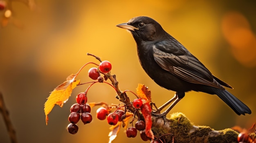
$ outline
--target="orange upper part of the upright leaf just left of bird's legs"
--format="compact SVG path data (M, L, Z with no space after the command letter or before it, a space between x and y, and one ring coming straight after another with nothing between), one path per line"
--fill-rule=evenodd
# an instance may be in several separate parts
M137 95L140 99L146 99L149 103L151 102L151 91L144 84L138 84L136 88Z

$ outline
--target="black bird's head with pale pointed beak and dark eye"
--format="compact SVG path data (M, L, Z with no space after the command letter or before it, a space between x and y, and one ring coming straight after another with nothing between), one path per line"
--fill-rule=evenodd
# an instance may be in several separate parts
M146 16L132 18L127 23L117 26L130 31L137 43L162 40L166 33L158 22Z

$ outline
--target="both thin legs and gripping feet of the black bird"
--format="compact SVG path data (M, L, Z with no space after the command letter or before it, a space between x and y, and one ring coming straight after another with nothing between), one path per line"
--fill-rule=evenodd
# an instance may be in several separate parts
M170 104L173 100L173 103L171 104L170 107L168 107L164 112L157 114L157 113L152 113L152 115L157 116L157 118L164 118L164 121L166 120L166 114L168 114L168 112L171 111L171 109L185 96L184 92L176 92L176 94L174 95L174 97L172 99L170 99L169 101L167 101L166 103L164 103L164 105L162 105L159 110L162 110L165 106L167 106L168 104Z

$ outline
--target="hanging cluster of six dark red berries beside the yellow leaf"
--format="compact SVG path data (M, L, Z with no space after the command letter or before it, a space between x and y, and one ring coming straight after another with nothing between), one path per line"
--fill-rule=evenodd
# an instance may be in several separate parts
M84 124L90 123L92 121L91 107L87 102L87 96L84 92L79 93L76 96L76 103L70 107L70 115L68 121L70 124L67 126L68 132L70 134L76 134L78 132L78 126L76 123L81 119Z

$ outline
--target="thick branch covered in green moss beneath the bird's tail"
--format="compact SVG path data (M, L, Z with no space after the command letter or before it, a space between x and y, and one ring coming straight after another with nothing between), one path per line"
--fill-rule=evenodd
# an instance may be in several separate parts
M161 140L166 143L238 143L238 132L228 128L224 130L213 130L208 126L195 126L180 112L171 114L164 123L163 118L156 119L152 116L152 131L156 137L163 134Z

